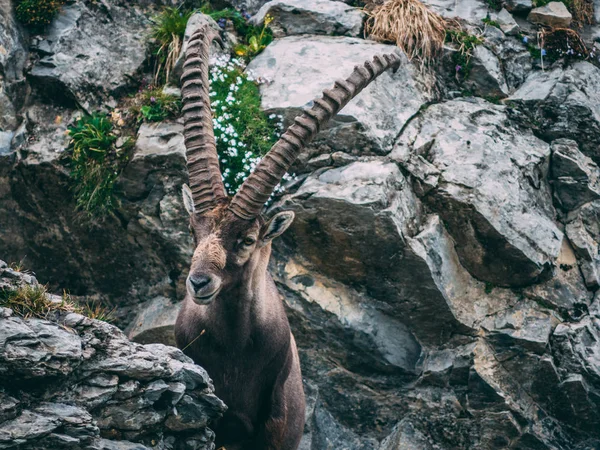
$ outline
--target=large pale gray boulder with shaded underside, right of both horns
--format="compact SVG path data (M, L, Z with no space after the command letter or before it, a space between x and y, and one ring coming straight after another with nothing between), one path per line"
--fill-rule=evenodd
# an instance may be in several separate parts
M441 103L408 125L392 153L409 172L413 155L440 171L426 201L444 219L467 270L501 286L547 276L562 242L545 184L550 149L508 126L502 106Z

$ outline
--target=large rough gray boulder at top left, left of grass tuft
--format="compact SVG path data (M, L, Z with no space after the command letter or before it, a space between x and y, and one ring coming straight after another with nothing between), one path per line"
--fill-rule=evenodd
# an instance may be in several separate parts
M92 111L114 103L142 69L149 25L139 10L116 0L66 5L35 47L43 56L31 81L59 104Z

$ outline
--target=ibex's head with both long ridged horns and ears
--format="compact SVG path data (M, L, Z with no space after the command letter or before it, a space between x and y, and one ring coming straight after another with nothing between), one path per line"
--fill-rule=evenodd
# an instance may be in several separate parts
M264 156L254 172L229 199L219 170L209 100L208 52L218 36L205 26L191 37L183 68L184 137L190 186L183 198L190 213L196 250L187 279L187 290L196 303L207 304L219 292L235 288L242 280L266 271L270 243L292 223L294 213L284 211L270 220L261 211L283 175L321 126L400 58L391 53L357 66L347 80L314 100L312 108Z

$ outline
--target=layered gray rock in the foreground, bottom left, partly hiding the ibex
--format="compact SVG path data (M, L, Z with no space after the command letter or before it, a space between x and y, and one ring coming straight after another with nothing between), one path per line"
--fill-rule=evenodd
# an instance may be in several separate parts
M0 287L35 284L0 262ZM60 301L60 300L58 300ZM70 313L0 308L0 448L209 450L225 406L180 350Z

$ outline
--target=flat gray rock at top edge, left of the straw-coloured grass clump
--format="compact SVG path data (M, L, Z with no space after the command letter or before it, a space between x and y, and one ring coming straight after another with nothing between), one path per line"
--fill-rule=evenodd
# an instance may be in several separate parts
M273 17L269 25L275 37L295 34L358 36L365 13L358 8L332 0L272 0L252 18L262 25L265 16Z

